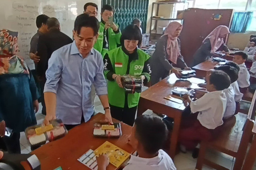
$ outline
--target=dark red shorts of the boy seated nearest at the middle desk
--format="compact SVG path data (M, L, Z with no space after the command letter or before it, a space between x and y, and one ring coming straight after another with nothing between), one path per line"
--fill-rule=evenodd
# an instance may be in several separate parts
M201 141L214 139L221 129L221 126L216 129L207 129L197 120L197 115L198 113L194 113L182 119L179 142L187 150L194 149Z

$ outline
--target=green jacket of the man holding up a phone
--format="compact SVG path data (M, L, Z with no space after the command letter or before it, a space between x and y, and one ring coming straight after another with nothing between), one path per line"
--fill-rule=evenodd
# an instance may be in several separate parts
M104 57L104 55L107 52L106 49L103 49L104 27L105 27L105 24L101 21L100 28L98 31L98 34L99 34L98 39L97 39L96 43L94 44L94 49L99 51L101 53L102 57ZM114 31L112 28L107 29L107 31L108 31L108 37L107 37L108 38L108 49L110 51L112 49L115 49L117 44L120 44L121 32L120 32L119 28L117 31Z

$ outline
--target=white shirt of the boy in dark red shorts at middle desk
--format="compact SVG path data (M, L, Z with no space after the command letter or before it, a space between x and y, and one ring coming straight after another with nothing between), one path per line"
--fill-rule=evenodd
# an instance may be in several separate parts
M222 118L226 110L227 98L222 91L208 92L190 103L192 113L199 111L197 119L207 129L215 129L223 124Z

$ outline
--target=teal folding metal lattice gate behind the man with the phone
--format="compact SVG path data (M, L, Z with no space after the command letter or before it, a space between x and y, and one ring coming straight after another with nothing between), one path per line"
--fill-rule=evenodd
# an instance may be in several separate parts
M146 32L148 0L102 0L101 4L114 7L114 22L119 25L121 31L138 18L142 22L143 33Z

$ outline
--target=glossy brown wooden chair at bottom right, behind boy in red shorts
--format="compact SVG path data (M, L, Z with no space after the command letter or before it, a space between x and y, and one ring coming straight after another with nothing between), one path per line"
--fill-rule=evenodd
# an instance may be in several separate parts
M213 149L223 152L236 158L233 170L241 170L246 155L246 150L252 137L252 128L254 126L251 118L255 117L256 93L252 98L252 103L248 115L238 113L235 117L227 120L223 125L223 131L214 141L200 144L199 156L196 163L196 169L202 170L203 164L217 170L228 170L219 164L216 164L205 158L206 150ZM255 152L254 152L255 153Z

